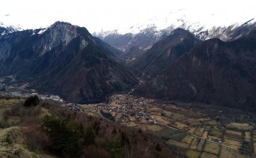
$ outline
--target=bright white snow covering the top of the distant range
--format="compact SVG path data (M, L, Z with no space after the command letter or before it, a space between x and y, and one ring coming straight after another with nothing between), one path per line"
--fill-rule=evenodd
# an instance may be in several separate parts
M243 24L253 25L256 22L255 19L252 19L256 15L244 14L243 16L230 16L229 14L232 13L225 15L222 12L210 13L210 11L204 12L203 9L194 10L192 8L183 8L166 15L154 16L131 27L118 28L110 31L101 30L100 32L94 32L93 35L104 39L108 35L125 35L126 33L136 35L150 28L155 31L156 36L160 36L163 31L170 33L175 28L183 28L194 33L200 39L207 40L214 37L217 33L221 35L226 29L232 31ZM246 22L249 19L251 20ZM224 34L220 38L225 40L226 35Z

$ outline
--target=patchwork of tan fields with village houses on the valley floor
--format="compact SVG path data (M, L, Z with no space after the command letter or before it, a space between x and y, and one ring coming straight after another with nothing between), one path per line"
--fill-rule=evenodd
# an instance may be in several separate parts
M150 130L168 144L186 150L185 157L246 157L239 150L243 141L251 141L251 133L255 142L251 143L251 148L256 151L256 131L251 131L256 126L236 122L232 118L239 115L224 113L223 110L199 110L191 108L191 105L158 103L139 97L133 99L133 96L126 94L112 96L112 103L105 109L105 112L112 111L110 114L117 123L143 131Z

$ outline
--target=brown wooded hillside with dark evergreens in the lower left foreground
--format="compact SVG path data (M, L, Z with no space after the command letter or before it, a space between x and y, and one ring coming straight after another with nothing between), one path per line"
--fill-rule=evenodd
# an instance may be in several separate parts
M5 146L0 157L178 157L177 153L183 153L155 134L105 122L50 101L30 107L10 105L4 113L7 121L9 117L19 121L16 130L9 127L14 125L6 127L6 133L0 130Z

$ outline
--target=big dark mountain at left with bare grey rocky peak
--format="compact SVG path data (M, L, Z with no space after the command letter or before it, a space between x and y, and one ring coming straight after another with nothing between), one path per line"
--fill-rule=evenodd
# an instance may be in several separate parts
M0 76L14 75L73 103L97 102L137 83L115 57L118 53L86 28L56 22L1 36Z

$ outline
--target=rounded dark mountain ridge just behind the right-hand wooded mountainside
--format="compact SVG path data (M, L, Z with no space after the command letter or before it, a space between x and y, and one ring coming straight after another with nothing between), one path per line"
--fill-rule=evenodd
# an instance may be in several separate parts
M181 55L189 52L199 42L200 40L192 33L177 28L170 33L170 36L156 42L145 53L131 61L129 65L137 70L137 75L152 78L175 62Z

